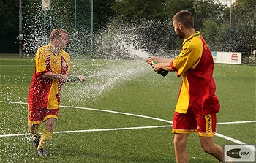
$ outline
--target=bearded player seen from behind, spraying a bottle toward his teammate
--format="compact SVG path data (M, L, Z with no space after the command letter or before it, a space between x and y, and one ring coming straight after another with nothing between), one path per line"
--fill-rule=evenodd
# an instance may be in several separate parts
M178 102L173 115L176 162L189 162L187 138L197 132L203 151L222 162L222 148L214 143L219 100L215 95L214 61L203 37L194 29L191 13L181 10L173 16L173 27L184 39L181 53L176 58L149 57L146 61L155 72L164 69L182 77ZM152 64L157 61L159 64Z

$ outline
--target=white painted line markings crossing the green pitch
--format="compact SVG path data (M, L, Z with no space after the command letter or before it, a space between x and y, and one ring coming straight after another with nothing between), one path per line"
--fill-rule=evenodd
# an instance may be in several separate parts
M0 101L1 103L11 103L11 104L22 104L26 105L26 102L4 102ZM111 110L100 110L100 109L93 109L93 108L86 108L86 107L72 107L72 106L60 106L60 107L67 107L67 108L73 108L73 109L82 109L82 110L94 110L94 111L100 111L100 112L106 112L106 113L116 113L116 114L123 114L123 115L130 115L130 116L136 116L140 118L149 118L157 121L165 121L169 124L173 124L173 121L167 121L165 119L161 118L154 118L149 117L145 115L137 115L137 114L131 114L131 113L123 113L123 112L117 112L117 111L111 111ZM217 124L247 124L247 123L256 123L256 121L233 121L233 122L219 122ZM171 127L173 125L167 125L167 126L140 126L140 127L126 127L126 128L115 128L115 129L88 129L88 130L75 130L75 131L63 131L63 132L54 132L54 133L73 133L73 132L102 132L102 131L118 131L118 130L127 130L127 129L154 129L154 128L164 128L164 127ZM15 136L24 136L29 135L30 133L26 134L2 134L0 137L15 137ZM241 142L240 140L233 139L232 137L227 137L223 134L215 134L217 137L222 137L225 140L229 140L233 143L237 144L246 144L244 142Z

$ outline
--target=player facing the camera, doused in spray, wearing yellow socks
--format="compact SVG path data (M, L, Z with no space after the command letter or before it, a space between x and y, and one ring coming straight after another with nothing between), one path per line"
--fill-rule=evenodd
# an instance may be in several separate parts
M50 43L37 50L35 71L28 96L28 126L39 156L47 156L45 145L53 136L58 118L60 92L64 83L74 77L86 80L83 75L69 74L70 58L63 49L67 47L68 34L64 29L53 29ZM45 123L39 135L39 124Z

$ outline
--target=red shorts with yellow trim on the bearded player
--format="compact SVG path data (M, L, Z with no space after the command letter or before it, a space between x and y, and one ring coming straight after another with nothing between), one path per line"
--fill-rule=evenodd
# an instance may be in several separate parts
M175 112L173 115L173 133L189 134L197 132L202 137L213 137L216 132L216 113L195 117L193 112L187 114Z

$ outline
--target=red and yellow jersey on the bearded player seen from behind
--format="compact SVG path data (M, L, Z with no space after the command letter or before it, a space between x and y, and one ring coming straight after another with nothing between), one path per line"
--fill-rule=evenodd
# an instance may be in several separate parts
M170 63L177 77L182 76L176 112L187 113L192 107L195 115L219 112L219 100L215 95L213 78L214 61L211 51L197 31L184 39L181 53Z

